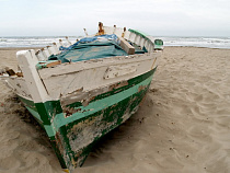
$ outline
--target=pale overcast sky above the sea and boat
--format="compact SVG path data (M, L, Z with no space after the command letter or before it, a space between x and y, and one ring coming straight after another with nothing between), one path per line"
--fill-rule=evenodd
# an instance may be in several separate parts
M153 36L230 36L229 0L0 0L0 36L79 36L97 23Z

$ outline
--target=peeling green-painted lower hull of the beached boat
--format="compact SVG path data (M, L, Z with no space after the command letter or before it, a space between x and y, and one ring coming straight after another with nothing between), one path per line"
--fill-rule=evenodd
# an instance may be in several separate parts
M62 106L60 101L34 103L20 99L46 130L62 169L71 171L83 164L96 140L138 109L154 71L156 69L128 80L126 85L92 97L88 105L74 102ZM71 109L72 113L65 109Z

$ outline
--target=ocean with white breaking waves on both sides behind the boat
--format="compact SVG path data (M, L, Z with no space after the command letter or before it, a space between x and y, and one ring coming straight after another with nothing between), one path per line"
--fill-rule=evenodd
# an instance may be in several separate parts
M74 43L80 36L69 36L69 41ZM230 37L154 37L164 42L164 46L193 46L209 48L230 48ZM65 36L25 36L25 37L1 37L0 47L45 47L51 45ZM65 42L64 42L65 43Z

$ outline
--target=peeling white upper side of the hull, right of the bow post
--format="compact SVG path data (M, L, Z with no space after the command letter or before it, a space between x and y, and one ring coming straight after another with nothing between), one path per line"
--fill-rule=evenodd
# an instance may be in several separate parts
M41 69L38 72L49 95L58 99L60 95L100 89L101 85L117 83L145 73L152 68L154 57L151 54L111 57L61 64L54 68Z

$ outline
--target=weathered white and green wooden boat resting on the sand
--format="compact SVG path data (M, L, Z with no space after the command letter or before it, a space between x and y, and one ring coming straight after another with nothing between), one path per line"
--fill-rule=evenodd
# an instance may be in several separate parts
M96 140L137 112L163 43L100 23L95 35L67 44L18 51L20 71L4 69L1 79L45 129L69 172L83 164Z

